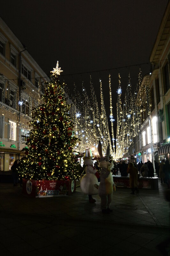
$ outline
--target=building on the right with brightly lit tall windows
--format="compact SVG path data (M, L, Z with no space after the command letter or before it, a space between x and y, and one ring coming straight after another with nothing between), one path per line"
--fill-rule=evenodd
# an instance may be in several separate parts
M128 149L127 162L169 159L170 154L170 2L167 5L151 55L151 73L143 77L138 134Z

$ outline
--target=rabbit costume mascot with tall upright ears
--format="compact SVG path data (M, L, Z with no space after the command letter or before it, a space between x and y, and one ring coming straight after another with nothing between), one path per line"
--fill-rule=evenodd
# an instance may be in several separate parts
M102 144L99 140L98 143L98 153L100 156L99 166L102 168L100 171L100 184L98 188L98 194L101 198L101 209L103 213L112 212L110 209L110 204L112 201L113 190L116 191L115 184L112 177L112 167L113 163L109 162L110 146L107 147L106 156L102 153Z

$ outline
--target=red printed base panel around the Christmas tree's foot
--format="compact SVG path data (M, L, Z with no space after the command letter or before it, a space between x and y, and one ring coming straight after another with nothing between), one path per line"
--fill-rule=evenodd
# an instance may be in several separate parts
M22 192L30 197L70 196L76 190L75 180L25 180Z

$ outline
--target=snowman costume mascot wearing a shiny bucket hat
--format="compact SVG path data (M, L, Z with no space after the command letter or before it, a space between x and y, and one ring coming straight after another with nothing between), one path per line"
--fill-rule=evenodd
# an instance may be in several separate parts
M94 187L98 184L97 180L97 170L93 167L92 152L90 148L86 148L85 155L83 157L84 164L86 164L85 172L86 174L80 180L80 188L82 192L89 195L89 202L95 203L96 200L92 198L92 195L98 194L98 189Z

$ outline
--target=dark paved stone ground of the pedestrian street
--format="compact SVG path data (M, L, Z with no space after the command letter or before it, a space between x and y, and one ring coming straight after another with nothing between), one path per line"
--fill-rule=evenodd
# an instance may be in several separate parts
M156 245L170 228L165 189L160 180L159 191L138 195L117 188L113 212L103 215L99 196L90 204L79 187L69 197L28 198L0 183L0 255L162 255Z

